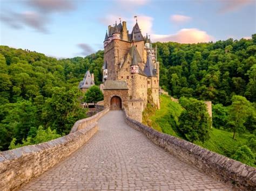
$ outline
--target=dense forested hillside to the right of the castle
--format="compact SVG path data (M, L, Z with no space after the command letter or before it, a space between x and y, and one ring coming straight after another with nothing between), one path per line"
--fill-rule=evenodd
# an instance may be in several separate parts
M160 86L170 95L230 105L233 95L256 99L256 42L227 39L215 43L154 43Z

